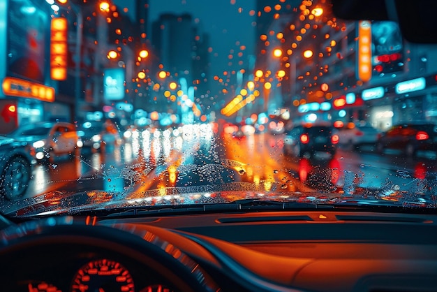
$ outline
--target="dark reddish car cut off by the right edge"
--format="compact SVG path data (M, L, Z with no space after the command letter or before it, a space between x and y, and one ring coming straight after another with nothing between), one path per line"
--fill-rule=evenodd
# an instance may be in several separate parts
M377 150L401 150L406 156L415 156L418 151L437 151L437 125L431 123L408 123L392 126L379 138Z

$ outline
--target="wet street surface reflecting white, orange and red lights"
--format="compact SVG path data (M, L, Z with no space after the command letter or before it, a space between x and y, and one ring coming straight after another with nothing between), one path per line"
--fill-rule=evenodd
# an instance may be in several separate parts
M334 157L320 153L299 159L283 154L283 135L195 135L140 136L123 145L108 145L103 152L84 149L72 161L37 164L24 198L90 189L126 191L126 197L135 198L145 191L190 187L193 182L243 182L262 185L265 191L353 193L364 187L420 192L418 188L426 187L424 179L437 172L435 157L427 153L406 159L396 152L380 156L373 147L364 147L353 152L338 149ZM6 210L20 207L4 199L1 205Z

